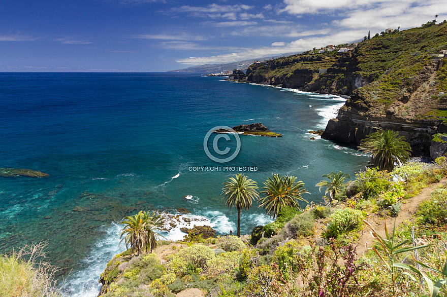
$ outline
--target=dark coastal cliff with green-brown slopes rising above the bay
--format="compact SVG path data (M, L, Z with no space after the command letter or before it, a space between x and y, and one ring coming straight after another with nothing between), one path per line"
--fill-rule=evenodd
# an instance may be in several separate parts
M374 36L347 53L283 57L252 64L243 79L348 95L322 137L357 147L371 132L398 131L412 156L429 156L447 132L447 23ZM445 54L443 54L445 51Z

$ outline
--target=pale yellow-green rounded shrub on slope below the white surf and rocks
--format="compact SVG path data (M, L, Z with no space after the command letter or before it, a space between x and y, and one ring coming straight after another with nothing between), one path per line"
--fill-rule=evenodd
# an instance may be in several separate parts
M168 256L167 267L176 275L201 272L208 267L208 262L216 255L203 244L194 244Z

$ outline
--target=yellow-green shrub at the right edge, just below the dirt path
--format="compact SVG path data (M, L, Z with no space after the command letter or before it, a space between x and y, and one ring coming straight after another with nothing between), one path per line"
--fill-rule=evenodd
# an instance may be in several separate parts
M419 205L417 215L422 224L445 227L447 223L447 189L437 189L430 200Z

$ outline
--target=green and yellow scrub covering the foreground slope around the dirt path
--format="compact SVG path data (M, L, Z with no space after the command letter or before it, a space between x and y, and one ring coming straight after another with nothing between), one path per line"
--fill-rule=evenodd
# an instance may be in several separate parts
M391 233L387 230L385 237L372 229L373 246L362 257L355 248L372 227L370 219L375 217L377 222L395 215L393 210L401 202L436 182L435 176L445 176L444 159L426 168L407 163L392 172L377 168L359 172L356 191L339 191L332 207L310 203L302 210L294 203L283 204L277 208L276 220L254 228L251 238L217 236L198 238L197 242L164 242L158 254L137 256L130 254L130 249L108 264L102 276L102 296L172 297L190 287L209 296L444 294L447 184L421 203L410 223L393 228ZM274 198L279 193L281 199L291 199L287 198L291 189L305 191L295 177L287 181L287 177L274 175L264 184L261 193L274 193ZM337 188L345 187L341 183ZM347 197L348 192L352 196ZM412 233L415 242L423 242L413 245L409 240Z

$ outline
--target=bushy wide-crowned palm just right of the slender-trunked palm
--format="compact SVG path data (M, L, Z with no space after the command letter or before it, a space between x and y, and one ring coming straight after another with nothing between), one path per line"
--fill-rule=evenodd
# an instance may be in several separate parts
M264 182L264 191L259 192L259 194L264 194L265 197L257 200L261 203L258 207L263 207L266 214L273 216L273 218L276 218L281 207L300 208L298 200L307 202L301 195L310 193L303 188L304 182L296 180L295 176L280 176L279 174L267 177L267 181Z

